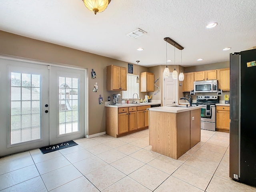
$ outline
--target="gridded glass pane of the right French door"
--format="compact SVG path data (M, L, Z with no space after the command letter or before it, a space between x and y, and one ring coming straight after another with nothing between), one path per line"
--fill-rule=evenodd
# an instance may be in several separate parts
M59 77L59 134L78 132L78 78Z

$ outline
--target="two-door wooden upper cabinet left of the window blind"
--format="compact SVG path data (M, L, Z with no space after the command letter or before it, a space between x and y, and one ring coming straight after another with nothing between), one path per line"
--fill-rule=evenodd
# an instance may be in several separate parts
M110 65L106 67L107 77L107 91L112 90L127 90L125 67Z

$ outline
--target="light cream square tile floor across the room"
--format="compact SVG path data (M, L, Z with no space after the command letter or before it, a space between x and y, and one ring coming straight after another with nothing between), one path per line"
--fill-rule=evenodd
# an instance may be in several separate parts
M229 134L201 130L201 142L178 160L152 152L148 130L121 138L0 158L1 192L255 192L229 178Z

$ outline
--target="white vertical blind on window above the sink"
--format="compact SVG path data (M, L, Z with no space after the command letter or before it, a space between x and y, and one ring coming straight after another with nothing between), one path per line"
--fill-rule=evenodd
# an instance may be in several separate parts
M137 83L137 76L136 75L130 75L130 74L127 74L127 90L126 91L123 91L122 95L123 95L123 99L131 99L132 98L132 95L134 93L137 93L138 96L139 95L139 86L140 86L140 83ZM137 96L135 97L137 98Z

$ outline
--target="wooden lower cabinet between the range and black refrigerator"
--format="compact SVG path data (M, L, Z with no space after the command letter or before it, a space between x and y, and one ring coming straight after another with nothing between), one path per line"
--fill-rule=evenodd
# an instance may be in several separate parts
M216 128L229 130L230 106L216 106Z

